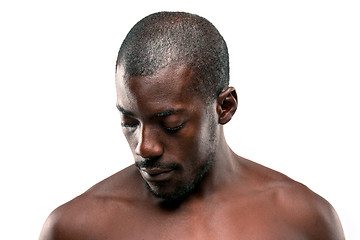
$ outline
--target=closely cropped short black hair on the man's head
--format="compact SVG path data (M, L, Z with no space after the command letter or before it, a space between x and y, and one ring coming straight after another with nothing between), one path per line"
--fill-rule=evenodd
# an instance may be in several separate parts
M116 67L129 76L150 76L170 64L185 64L194 89L206 102L229 85L229 54L212 23L184 12L158 12L138 23L123 41Z

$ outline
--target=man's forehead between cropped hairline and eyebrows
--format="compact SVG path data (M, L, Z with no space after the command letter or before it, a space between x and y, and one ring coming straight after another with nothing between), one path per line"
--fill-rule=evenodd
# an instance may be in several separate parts
M127 76L119 67L116 74L117 104L149 114L166 108L199 105L202 101L193 85L192 71L186 66L172 65L152 76Z

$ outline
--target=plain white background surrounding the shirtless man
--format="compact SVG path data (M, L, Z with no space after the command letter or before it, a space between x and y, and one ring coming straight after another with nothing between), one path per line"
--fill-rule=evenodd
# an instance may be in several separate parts
M129 29L197 13L228 43L239 155L325 197L360 239L357 1L2 1L0 238L37 239L48 214L132 163L114 66Z

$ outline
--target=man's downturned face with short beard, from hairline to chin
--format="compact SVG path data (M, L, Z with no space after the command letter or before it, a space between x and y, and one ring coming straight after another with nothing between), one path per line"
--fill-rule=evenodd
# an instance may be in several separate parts
M117 70L117 106L135 165L148 189L167 200L194 191L216 152L215 100L205 105L191 81L185 66L147 77Z

